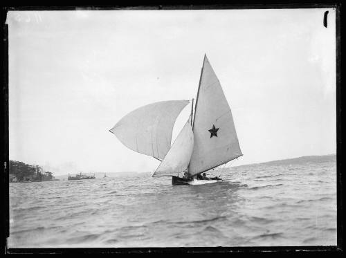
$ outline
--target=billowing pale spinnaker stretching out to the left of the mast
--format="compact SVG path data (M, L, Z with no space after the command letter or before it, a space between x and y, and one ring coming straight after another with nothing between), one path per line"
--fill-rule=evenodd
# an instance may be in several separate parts
M111 130L123 145L157 159L171 147L174 122L188 100L155 102L127 114Z

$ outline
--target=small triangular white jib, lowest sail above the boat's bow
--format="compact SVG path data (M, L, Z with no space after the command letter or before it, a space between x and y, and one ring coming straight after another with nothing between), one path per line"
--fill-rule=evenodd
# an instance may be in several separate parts
M153 176L177 176L188 168L194 146L191 119L181 129Z

